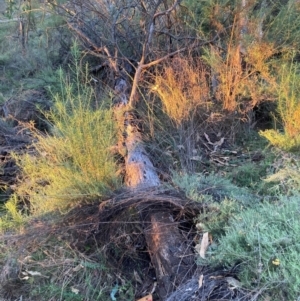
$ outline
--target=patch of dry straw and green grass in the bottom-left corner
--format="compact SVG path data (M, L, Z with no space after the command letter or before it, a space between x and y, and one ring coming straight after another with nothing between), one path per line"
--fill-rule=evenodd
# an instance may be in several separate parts
M69 233L82 222L53 225L35 220L22 235L6 235L0 244L0 299L108 300L115 279L108 277L101 251L94 248L91 255L78 251L78 238Z

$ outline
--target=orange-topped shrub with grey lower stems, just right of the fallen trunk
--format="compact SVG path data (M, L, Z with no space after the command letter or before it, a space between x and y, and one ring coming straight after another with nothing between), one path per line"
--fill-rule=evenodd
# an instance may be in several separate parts
M197 154L198 127L207 119L213 105L207 76L206 66L201 59L178 56L162 69L158 68L151 86L152 93L161 101L163 111L160 120L157 120L157 114L152 113L156 123L160 124L156 135L168 132L165 135L169 136L166 144L175 148L179 165L186 172L195 171L198 165L193 160ZM167 127L168 131L165 130Z

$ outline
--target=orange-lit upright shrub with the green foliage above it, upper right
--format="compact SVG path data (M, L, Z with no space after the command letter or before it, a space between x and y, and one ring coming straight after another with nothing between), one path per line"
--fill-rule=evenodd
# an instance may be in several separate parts
M201 48L214 100L249 118L254 107L274 99L274 69L299 49L299 1L184 0L182 5L189 28L214 40Z

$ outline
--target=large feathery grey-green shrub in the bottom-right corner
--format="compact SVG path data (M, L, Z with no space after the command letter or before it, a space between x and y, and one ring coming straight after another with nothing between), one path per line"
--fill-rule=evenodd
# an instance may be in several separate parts
M263 203L232 219L218 247L210 252L215 265L239 265L245 288L265 292L271 300L300 297L300 195Z

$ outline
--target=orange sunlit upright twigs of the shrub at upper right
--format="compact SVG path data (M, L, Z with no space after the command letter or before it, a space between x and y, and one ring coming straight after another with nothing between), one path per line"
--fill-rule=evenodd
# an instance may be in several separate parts
M203 59L216 77L214 93L223 109L246 113L258 105L264 95L273 94L273 77L267 61L276 49L271 43L247 45L244 58L247 64L243 66L241 46L229 41L227 47L226 55L218 47L209 47Z

